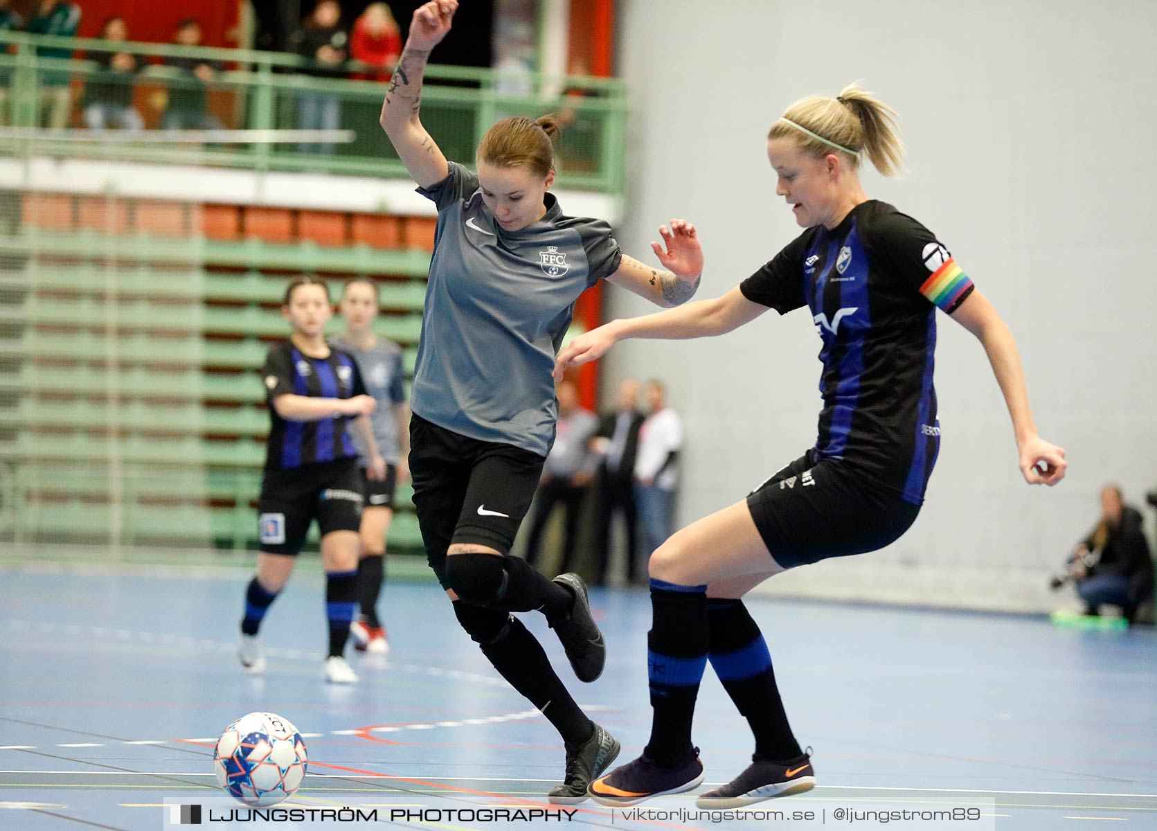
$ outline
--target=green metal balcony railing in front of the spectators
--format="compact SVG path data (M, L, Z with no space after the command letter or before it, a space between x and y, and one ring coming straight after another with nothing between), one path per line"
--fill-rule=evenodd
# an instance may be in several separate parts
M257 170L319 170L376 177L406 177L397 154L378 126L385 84L375 80L317 78L301 74L315 61L281 52L258 52L149 43L115 43L90 38L37 36L0 31L0 123L35 128L49 111L45 90L71 90L69 124L83 124L86 90L117 83L95 61L51 58L38 47L69 49L74 54L127 52L143 67L131 75L132 103L148 130L160 127L174 94L206 94L206 108L226 128L293 130L299 108L308 98L336 101L338 126L355 133L353 141L325 152L303 152L295 145L191 146L125 141L59 141L59 137L0 131L0 153L94 156L148 162L213 164ZM165 58L198 58L218 65L202 83L192 74L163 65ZM377 67L351 62L351 73L377 73ZM569 122L559 146L559 185L621 196L626 93L617 79L553 78L541 74L511 76L498 69L432 65L422 87L422 123L448 159L472 163L482 133L510 115L537 117L562 112ZM125 84L127 86L127 84ZM169 103L167 103L167 101ZM78 134L79 135L79 134Z

